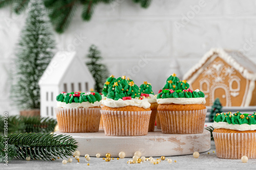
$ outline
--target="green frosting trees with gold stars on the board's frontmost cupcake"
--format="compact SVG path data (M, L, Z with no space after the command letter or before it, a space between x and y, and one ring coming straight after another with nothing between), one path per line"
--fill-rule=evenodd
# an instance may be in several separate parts
M113 100L129 100L135 97L139 98L139 87L135 86L134 82L129 82L125 76L119 77L115 80L114 85L109 88L106 98Z

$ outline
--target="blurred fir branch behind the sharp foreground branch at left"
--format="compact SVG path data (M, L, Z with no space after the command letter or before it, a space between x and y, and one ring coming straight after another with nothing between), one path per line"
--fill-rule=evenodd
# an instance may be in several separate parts
M56 125L56 120L49 117L8 117L8 133L50 133L54 131ZM4 116L0 116L0 132L4 133Z

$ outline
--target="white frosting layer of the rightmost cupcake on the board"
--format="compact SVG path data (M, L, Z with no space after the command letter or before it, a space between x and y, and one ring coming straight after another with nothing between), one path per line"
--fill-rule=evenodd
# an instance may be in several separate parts
M178 105L200 105L205 104L205 98L164 98L157 99L158 104L178 104Z

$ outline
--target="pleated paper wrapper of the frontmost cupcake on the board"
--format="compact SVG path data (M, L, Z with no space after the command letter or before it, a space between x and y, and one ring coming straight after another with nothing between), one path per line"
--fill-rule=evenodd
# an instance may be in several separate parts
M151 111L101 110L100 112L107 136L147 135Z

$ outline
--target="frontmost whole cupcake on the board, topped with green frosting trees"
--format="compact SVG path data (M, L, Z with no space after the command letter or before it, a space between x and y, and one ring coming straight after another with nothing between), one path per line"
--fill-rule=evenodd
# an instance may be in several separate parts
M125 76L115 80L106 100L102 100L101 116L108 136L142 136L148 131L150 103L139 96L139 87Z

